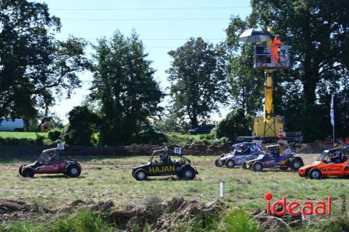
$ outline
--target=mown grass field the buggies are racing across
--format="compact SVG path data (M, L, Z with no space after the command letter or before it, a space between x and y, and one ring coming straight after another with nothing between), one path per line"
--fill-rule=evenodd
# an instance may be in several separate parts
M303 155L309 163L317 155ZM45 204L52 208L75 200L102 201L112 199L117 207L140 201L147 196L162 199L184 197L204 203L218 199L219 182L224 181L224 197L228 206L241 206L248 212L255 208L265 209L265 192L272 192L275 200L287 196L290 201L325 201L332 196L332 215L339 215L341 195L349 195L348 178L309 180L299 178L297 172L270 169L255 173L239 167L235 169L214 166L216 157L188 156L199 175L195 180L178 180L177 177L154 177L136 181L131 168L147 161L147 157L77 158L82 164L80 178L63 175L37 175L22 178L17 168L20 162L0 162L0 199L24 199ZM273 200L274 200L273 199Z

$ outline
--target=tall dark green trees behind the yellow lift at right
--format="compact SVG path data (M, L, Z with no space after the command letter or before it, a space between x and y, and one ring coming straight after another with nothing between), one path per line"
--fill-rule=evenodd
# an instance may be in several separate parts
M251 45L239 44L237 38L247 28L272 27L283 43L291 46L295 61L290 70L273 73L274 112L285 116L286 131L300 130L306 141L322 140L332 134L329 100L335 93L336 132L338 137L346 137L349 127L346 5L346 0L251 1L253 11L246 20L232 17L226 30L232 58L228 82L237 105L248 114L260 111L258 98L262 98L264 79L262 72L253 70Z

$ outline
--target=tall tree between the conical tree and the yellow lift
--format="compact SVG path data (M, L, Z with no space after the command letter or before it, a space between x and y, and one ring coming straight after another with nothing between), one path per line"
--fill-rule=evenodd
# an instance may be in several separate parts
M224 47L191 38L168 54L173 59L167 70L173 109L197 127L227 98Z

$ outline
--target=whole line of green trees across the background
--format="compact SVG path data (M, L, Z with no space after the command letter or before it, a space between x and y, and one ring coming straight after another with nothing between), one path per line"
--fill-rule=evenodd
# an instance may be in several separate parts
M291 46L290 70L274 74L274 111L285 116L288 131L302 131L306 141L331 134L329 102L336 98L336 132L348 135L348 3L345 0L251 1L246 19L234 16L226 40L218 45L190 38L168 52L170 87L162 90L156 70L133 31L101 38L94 56L87 42L70 36L57 40L61 22L45 3L0 2L0 114L25 118L27 127L40 111L48 114L59 98L80 87L78 73L93 73L90 93L68 115L64 139L69 144L116 146L140 141L141 124L156 122L166 130L211 123L222 106L232 112L217 137L248 135L251 118L262 111L264 75L253 69L253 46L237 42L248 28L272 27ZM159 103L168 96L165 109ZM166 98L167 99L167 98ZM227 130L222 130L225 127ZM224 129L224 128L223 128ZM83 135L82 135L83 134Z

